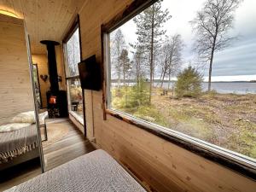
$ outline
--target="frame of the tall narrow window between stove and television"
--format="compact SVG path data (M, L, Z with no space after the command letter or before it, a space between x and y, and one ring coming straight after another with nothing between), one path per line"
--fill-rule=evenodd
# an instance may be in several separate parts
M69 80L70 79L79 79L79 75L69 76L67 75L67 41L73 36L73 33L76 32L76 30L79 30L79 51L80 51L80 61L83 60L82 58L82 44L81 44L81 31L80 31L80 21L79 21L79 15L76 16L76 18L73 20L73 24L70 27L69 31L66 33L65 37L62 40L62 51L64 56L64 71L65 71L65 79L66 79L66 86L67 86L67 108L68 113L73 116L74 119L76 119L81 125L84 126L84 136L86 137L86 119L85 119L85 103L84 103L84 89L82 89L82 99L83 99L83 119L78 117L78 114L74 113L71 110L71 103L70 103L70 95L69 95Z

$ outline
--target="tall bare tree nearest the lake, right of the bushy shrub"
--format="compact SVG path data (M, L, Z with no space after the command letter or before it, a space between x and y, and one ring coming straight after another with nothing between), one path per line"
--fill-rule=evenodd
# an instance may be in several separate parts
M209 61L208 91L211 90L214 53L230 45L228 37L234 12L241 0L207 0L203 9L191 21L196 32L195 50L202 59Z

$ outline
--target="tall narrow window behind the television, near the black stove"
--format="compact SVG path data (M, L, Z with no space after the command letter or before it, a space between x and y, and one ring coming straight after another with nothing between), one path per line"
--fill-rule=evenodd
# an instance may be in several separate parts
M69 111L83 123L83 95L79 80L80 44L77 27L65 44Z

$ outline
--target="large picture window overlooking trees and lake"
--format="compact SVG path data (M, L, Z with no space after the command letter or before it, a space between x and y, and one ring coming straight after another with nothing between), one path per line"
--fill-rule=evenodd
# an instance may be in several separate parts
M108 109L255 163L255 5L164 0L110 30Z

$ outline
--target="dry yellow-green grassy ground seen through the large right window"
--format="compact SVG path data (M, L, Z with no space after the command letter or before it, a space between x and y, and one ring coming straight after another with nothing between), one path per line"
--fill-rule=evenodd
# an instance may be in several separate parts
M128 97L132 93L129 87L119 91L122 94L113 94L113 108L256 158L256 95L212 91L199 98L175 99L161 96L162 90L157 88L151 104L136 105L128 98L130 104L126 105L125 91Z

